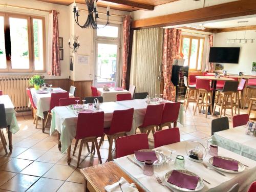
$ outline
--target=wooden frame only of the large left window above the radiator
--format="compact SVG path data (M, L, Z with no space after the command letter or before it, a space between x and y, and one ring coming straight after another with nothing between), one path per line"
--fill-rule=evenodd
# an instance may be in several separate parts
M28 48L29 48L29 69L12 69L11 59L8 57L6 58L6 69L0 69L0 72L8 72L8 73L45 73L46 72L46 26L45 26L45 17L42 16L34 16L34 15L26 15L26 14L16 14L16 13L9 13L9 12L0 12L0 16L4 16L4 31L5 31L5 53L7 51L7 45L11 45L11 39L8 39L7 36L10 38L10 22L9 18L22 18L27 19L28 22ZM41 19L42 20L42 39L43 39L43 67L42 70L35 70L35 60L34 60L34 33L33 33L33 19ZM6 42L6 39L9 42ZM8 48L11 50L11 46ZM7 54L7 53L6 53Z

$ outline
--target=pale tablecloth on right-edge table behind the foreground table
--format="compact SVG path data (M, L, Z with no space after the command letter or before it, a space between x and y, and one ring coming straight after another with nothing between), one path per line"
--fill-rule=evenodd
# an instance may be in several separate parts
M256 161L256 137L246 135L246 129L246 126L238 126L216 132L212 135L212 143Z

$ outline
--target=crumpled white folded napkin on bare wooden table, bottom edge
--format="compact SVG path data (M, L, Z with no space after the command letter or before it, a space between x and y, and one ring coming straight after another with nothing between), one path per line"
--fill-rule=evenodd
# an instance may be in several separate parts
M119 186L119 183L121 184L122 190ZM112 185L105 186L105 190L108 192L139 192L134 183L128 183L123 177L121 177L120 181Z

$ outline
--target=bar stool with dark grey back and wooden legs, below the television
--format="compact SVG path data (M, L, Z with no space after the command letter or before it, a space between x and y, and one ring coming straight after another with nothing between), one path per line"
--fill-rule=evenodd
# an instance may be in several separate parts
M222 111L224 109L224 116L226 116L226 109L231 109L231 116L233 117L233 95L238 94L238 81L226 81L222 90L216 89L218 95L216 96L214 111L216 106L221 106L220 117L222 116ZM230 102L228 101L230 97Z

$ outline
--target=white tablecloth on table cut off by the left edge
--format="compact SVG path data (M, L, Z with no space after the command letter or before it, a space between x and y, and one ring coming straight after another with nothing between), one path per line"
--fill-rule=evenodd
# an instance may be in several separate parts
M10 132L15 134L17 131L19 131L19 126L15 116L16 111L14 110L12 101L8 95L1 95L0 103L5 104L6 122L7 122L7 125L10 126Z

